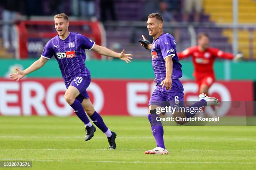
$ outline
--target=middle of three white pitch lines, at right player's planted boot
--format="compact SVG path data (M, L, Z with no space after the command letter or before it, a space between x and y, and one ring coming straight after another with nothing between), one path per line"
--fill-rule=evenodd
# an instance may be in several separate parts
M69 148L61 148L61 149L56 149L56 148L44 148L44 149L27 149L27 148L20 148L20 149L0 149L0 150L27 150L27 151L29 151L29 150L32 150L32 151L35 151L35 150L37 150L37 151L40 151L40 150L54 150L54 151L56 151L56 150L88 150L88 149L69 149ZM91 149L91 150L109 150L109 149ZM117 149L117 150L119 150L119 151L131 151L131 150L146 150L146 149ZM216 151L225 151L225 152L256 152L256 150L208 150L208 149L171 149L170 151L172 151L172 150L183 150L183 151L200 151L200 152L202 152L202 151L208 151L208 152L216 152Z

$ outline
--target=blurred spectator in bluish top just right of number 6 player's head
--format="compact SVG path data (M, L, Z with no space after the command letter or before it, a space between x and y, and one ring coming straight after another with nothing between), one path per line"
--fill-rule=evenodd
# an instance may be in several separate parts
M159 3L159 10L157 11L157 13L162 15L165 23L175 23L176 21L174 19L174 15L167 10L167 7L168 7L168 4L166 2L164 2L164 1L161 1ZM180 40L179 29L176 29L176 28L175 29L165 28L165 30L167 30L166 33L172 34L174 36L175 40L177 42L179 42L179 40Z

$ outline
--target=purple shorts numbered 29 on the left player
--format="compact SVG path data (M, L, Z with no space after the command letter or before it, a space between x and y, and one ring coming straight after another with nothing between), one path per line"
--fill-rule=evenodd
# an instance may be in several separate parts
M76 97L76 99L81 103L84 98L89 98L86 89L90 85L90 82L90 77L79 75L78 77L75 77L74 80L72 80L72 82L70 83L70 85L76 87L79 90L80 94Z

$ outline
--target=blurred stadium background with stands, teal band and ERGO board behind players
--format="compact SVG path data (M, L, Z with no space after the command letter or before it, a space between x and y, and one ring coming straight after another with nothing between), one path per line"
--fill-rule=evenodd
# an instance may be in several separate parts
M188 2L191 1L1 0L0 115L74 115L64 101L65 87L55 59L23 81L8 79L15 67L25 69L40 57L46 42L56 35L53 15L63 12L70 16L70 31L82 33L117 52L125 49L134 56L127 65L87 51L86 65L92 72L89 92L102 115L147 114L154 74L150 52L140 47L138 40L143 34L152 41L146 20L154 12L164 16L164 31L174 35L177 52L196 45L198 32L210 35L212 47L233 54L242 52L241 62L215 62L217 82L210 88L210 95L224 101L254 101L256 1L197 0L201 8L195 4L191 9L186 6ZM181 63L185 100L197 100L191 59ZM113 104L117 109L113 110ZM211 114L210 110L207 112ZM229 114L232 115L228 111L220 113Z

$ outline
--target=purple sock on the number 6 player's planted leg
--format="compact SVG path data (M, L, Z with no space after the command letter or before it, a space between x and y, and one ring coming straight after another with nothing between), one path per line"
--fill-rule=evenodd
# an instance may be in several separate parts
M148 115L148 120L151 125L152 134L154 135L154 138L156 140L156 146L164 148L164 128L161 123L161 121L157 121L156 117L159 117L159 115Z

